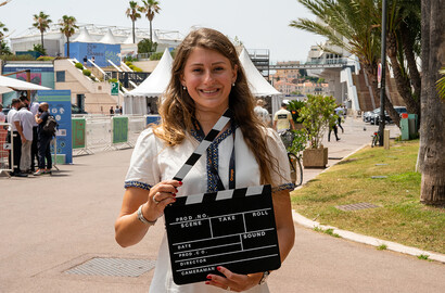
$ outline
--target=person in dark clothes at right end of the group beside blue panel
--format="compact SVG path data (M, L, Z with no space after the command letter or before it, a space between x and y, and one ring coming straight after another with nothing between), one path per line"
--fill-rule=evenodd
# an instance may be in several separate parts
M43 130L43 126L48 120L50 113L48 112L49 105L48 103L43 102L39 105L39 113L36 114L35 119L36 123L39 125L38 128L38 142L37 149L39 153L39 168L34 174L34 176L40 176L43 174L51 174L52 168L52 157L51 157L51 148L50 143L52 140L52 135L47 133Z

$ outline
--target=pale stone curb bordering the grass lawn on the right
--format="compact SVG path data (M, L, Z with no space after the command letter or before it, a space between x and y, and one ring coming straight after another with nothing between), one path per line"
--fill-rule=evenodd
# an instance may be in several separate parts
M342 162L343 160L347 158L348 156L351 156L352 154L358 152L359 150L364 149L367 145L369 145L369 143L366 143L366 144L361 145L360 148L358 148L354 152L352 152L348 155L344 156L339 162ZM332 164L331 166L329 166L328 168L326 168L321 173L325 173L326 170L328 170L330 167L334 166L339 162L335 162L334 164ZM303 183L302 186L297 187L295 190L303 188L305 184L306 183ZM408 254L408 255L412 255L412 256L424 255L424 256L428 256L428 259L432 259L432 260L436 260L436 262L445 264L445 255L444 254L422 251L422 250L419 250L419 249L416 249L416 247L405 246L405 245L402 245L402 244L398 244L398 243L395 243L395 242L381 240L381 239L377 239L377 238L373 238L373 237L363 235L363 234L358 234L358 233L346 231L346 230L341 230L341 229L338 229L338 228L332 227L332 226L320 225L318 221L314 221L314 220L310 220L308 218L305 218L301 214L296 213L294 209L292 209L292 219L295 224L298 224L298 225L301 225L303 227L306 227L306 228L309 228L309 229L314 229L314 228L320 228L322 230L332 229L332 232L339 234L340 237L342 237L344 239L347 239L347 240L351 240L351 241L354 241L354 242L358 242L358 243L363 243L363 244L367 244L367 245L372 245L372 246L376 246L376 247L379 247L381 245L386 245L386 250L389 250L389 251L398 252L398 253L403 253L403 254Z

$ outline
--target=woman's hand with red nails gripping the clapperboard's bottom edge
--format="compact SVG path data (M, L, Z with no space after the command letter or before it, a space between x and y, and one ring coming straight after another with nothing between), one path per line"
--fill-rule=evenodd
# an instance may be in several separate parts
M239 275L230 271L225 267L217 267L217 270L226 276L226 278L223 276L209 273L207 275L208 281L206 281L205 283L233 292L243 292L257 285L263 276L263 272Z

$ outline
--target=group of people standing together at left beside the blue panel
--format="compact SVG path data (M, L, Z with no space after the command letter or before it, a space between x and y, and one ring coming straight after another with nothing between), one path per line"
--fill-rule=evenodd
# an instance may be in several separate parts
M46 102L30 103L25 95L12 99L11 110L5 117L5 122L10 124L8 142L13 142L12 155L9 153L11 176L51 174L50 143L54 133L43 129L49 116L49 105Z

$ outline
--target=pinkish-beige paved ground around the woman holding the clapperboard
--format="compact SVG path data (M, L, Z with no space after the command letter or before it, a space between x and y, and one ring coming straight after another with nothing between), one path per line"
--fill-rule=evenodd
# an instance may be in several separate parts
M369 144L376 129L348 117L344 133L339 133L340 141L325 138L328 166ZM393 125L387 129L391 137L399 133ZM60 165L52 176L0 178L1 293L148 292L153 269L139 277L105 276L111 275L106 270L73 273L77 266L91 264L92 258L156 259L162 222L131 247L122 249L114 241L114 220L131 152L126 149L75 156L73 165ZM305 169L304 182L321 171ZM315 232L310 228L318 224L296 213L294 220L294 247L268 280L272 293L445 292L445 265L441 262L412 256L419 252L378 251L360 243L358 238L367 239L365 235L353 233L339 239ZM118 262L117 267L125 269L126 263Z

